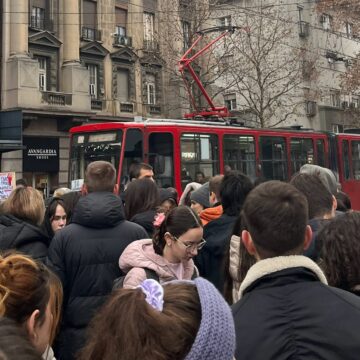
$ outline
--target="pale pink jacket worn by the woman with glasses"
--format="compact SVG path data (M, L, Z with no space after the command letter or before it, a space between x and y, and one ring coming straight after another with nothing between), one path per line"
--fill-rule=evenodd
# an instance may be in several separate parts
M194 272L193 260L184 260L184 275L189 279ZM154 251L151 239L132 242L122 253L119 260L120 269L127 273L132 268L148 268L154 270L160 278L173 278L169 262Z

